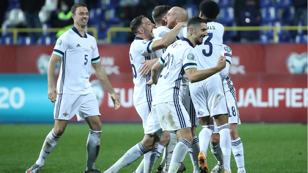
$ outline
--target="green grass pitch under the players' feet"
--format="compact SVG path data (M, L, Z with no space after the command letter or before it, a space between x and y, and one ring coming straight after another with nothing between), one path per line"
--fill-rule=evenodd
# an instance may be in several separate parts
M39 156L43 141L53 125L0 125L0 172L25 172ZM69 123L55 149L45 161L41 173L82 173L85 169L87 124ZM197 128L197 134L201 127ZM238 126L244 145L247 173L307 172L307 125L243 124ZM101 147L96 168L106 170L130 147L142 140L141 124L103 124ZM209 168L214 157L208 150ZM160 163L159 159L156 164ZM123 168L132 173L141 159ZM193 168L189 155L184 164L187 173ZM231 169L237 172L233 155Z

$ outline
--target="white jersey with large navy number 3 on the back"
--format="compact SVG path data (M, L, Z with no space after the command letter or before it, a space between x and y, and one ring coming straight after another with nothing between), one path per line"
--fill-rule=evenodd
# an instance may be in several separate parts
M221 52L222 36L225 28L220 23L206 20L208 36L203 39L203 44L195 47L197 54L198 70L205 70L217 65Z

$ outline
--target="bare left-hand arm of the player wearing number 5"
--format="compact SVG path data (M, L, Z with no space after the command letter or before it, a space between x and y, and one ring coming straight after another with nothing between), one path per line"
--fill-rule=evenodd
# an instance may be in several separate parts
M48 99L52 103L56 102L55 93L59 95L54 85L54 75L55 75L55 66L60 61L60 59L61 57L59 55L51 54L51 58L49 59L48 67L47 67L47 81L48 81L47 95L48 95Z

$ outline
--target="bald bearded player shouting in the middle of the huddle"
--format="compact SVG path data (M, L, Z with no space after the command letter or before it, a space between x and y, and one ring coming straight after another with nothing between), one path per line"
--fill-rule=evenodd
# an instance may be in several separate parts
M167 22L166 26L157 27L153 30L153 34L155 37L161 37L164 34L168 33L170 30L172 30L179 22L187 21L188 20L188 13L185 9L181 7L172 7L168 13L164 16L164 20ZM177 35L176 39L182 39L184 38L184 35L186 36L187 33L187 27L183 28L180 33ZM193 135L193 143L192 146L189 148L189 155L193 163L194 171L198 172L199 169L199 163L197 156L200 152L199 148L199 139L196 135L196 128L199 125L199 119L196 117L196 111L193 106L193 102L190 97L189 89L186 90L184 99L183 99L183 105L185 109L188 112L188 115L191 119L191 126L192 126L192 135ZM156 168L156 172L161 172L162 167L164 167L165 171L168 172L168 166L171 161L172 153L174 150L174 147L177 143L177 136L172 131L170 132L170 142L168 146L166 147L166 150L164 152L163 159L160 163L160 165ZM165 158L165 159L164 159ZM165 165L164 165L165 163ZM182 165L183 169L185 168L184 165Z

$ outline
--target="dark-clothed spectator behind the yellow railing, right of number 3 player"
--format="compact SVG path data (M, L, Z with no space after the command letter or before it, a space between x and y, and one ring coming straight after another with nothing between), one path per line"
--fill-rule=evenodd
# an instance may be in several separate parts
M240 12L241 26L260 26L261 14L256 7L255 0L246 0L246 8ZM241 42L250 42L259 40L259 31L242 31Z

